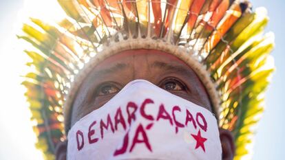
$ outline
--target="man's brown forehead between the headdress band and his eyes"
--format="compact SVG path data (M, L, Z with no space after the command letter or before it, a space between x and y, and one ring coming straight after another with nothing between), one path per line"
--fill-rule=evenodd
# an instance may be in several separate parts
M134 65L139 67L135 68ZM118 71L127 69L140 71L144 65L151 70L193 74L191 67L176 56L157 50L137 49L134 51L125 51L107 58L94 68L92 77L98 78L98 76L112 75Z

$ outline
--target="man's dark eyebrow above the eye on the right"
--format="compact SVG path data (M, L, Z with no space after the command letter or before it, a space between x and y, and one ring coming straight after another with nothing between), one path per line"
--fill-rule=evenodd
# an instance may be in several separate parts
M169 63L160 62L160 61L154 61L150 67L160 68L160 69L163 69L165 71L175 71L175 72L182 73L182 74L191 73L191 71L189 71L189 69L186 69L182 65L171 65Z

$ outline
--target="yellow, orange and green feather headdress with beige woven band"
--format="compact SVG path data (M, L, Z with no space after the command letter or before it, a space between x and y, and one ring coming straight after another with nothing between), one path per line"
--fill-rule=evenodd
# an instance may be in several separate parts
M72 100L98 62L128 49L158 49L193 67L222 128L235 137L235 159L248 155L274 69L266 10L241 0L58 0L66 19L31 19L19 36L34 46L23 85L36 144L54 159L70 127ZM63 110L65 116L63 116Z

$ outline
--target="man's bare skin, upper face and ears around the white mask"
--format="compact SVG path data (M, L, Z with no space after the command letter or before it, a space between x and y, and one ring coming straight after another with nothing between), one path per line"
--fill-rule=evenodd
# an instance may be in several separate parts
M136 49L103 60L81 84L72 106L72 126L100 108L127 83L144 79L212 111L209 95L196 73L182 60L165 52ZM234 142L229 130L220 128L222 159L233 159ZM65 159L67 143L59 144L56 159Z

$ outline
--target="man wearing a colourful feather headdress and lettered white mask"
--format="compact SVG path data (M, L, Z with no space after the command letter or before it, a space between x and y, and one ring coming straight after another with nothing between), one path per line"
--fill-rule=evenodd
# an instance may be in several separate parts
M266 15L226 0L59 3L68 21L23 29L41 51L24 84L47 159L246 155L273 70Z

